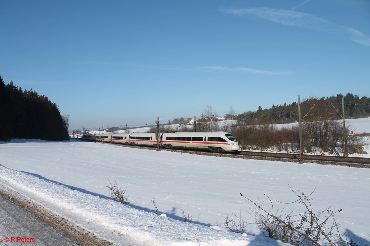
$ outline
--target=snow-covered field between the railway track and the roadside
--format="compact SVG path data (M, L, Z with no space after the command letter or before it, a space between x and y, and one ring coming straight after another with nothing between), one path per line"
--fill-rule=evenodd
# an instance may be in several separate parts
M370 169L199 156L102 143L18 140L0 143L0 182L102 238L124 245L284 245L246 224L224 228L225 216L250 215L253 201L298 212L289 189L310 193L315 211L336 214L347 235L370 233ZM107 199L109 182L127 189L131 205ZM152 199L158 207L155 214ZM266 201L266 208L269 202ZM189 215L193 223L182 222ZM235 216L235 215L234 215ZM235 218L235 217L234 217ZM369 245L369 241L366 242Z

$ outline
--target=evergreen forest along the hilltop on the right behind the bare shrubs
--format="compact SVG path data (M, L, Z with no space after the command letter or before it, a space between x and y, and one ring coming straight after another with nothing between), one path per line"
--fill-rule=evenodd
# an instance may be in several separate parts
M342 113L342 97L344 97L344 115L346 118L366 118L370 116L370 97L359 97L352 93L346 96L337 94L331 97L309 98L301 102L302 117L314 106L315 115L321 118L340 119ZM293 102L289 105L272 105L269 109L258 107L256 111L248 111L239 115L226 115L227 119L235 117L240 125L260 125L293 123L298 121L298 104ZM235 119L234 118L234 119Z

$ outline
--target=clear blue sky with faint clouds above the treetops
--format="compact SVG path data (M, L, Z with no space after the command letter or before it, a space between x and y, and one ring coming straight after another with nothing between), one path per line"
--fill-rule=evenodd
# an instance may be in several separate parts
M55 101L70 129L370 97L367 0L0 0L0 10L0 75Z

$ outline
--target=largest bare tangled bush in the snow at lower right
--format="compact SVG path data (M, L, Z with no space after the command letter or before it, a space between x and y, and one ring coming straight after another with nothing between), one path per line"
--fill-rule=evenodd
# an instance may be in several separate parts
M260 228L263 235L296 246L355 245L353 242L344 239L344 234L340 232L339 224L334 218L334 215L342 212L342 209L333 210L328 208L313 212L312 198L309 197L314 190L309 195L305 195L300 191L297 193L290 186L289 188L297 199L293 202L278 202L282 204L299 203L303 207L302 212L282 214L282 212L275 211L272 201L267 195L271 208L266 210L262 207L263 203L253 202L240 193L242 197L256 206L256 210L252 212L255 218L253 224Z

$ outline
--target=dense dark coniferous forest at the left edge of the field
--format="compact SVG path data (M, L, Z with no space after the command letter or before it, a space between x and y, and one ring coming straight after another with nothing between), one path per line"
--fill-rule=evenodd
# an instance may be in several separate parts
M0 76L0 141L12 138L68 140L68 116L36 91L22 90Z

